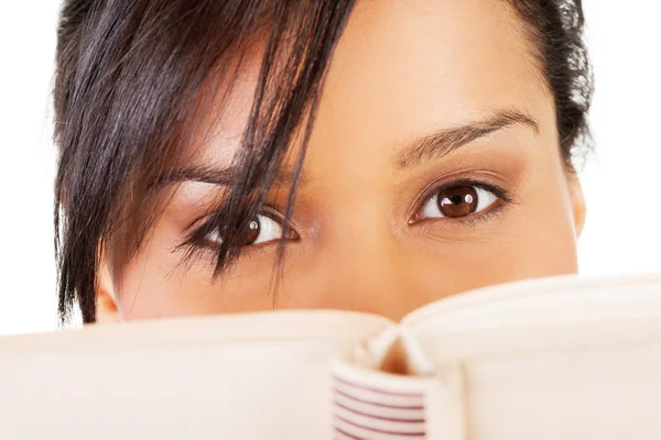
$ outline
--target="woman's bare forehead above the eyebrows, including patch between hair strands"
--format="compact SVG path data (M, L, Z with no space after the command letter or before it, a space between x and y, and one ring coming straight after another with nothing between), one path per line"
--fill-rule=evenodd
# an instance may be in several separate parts
M224 101L205 158L231 160L258 75L256 55ZM346 154L373 161L377 148L391 158L415 136L509 109L534 114L542 130L554 123L534 47L507 1L359 0L328 70L306 167Z

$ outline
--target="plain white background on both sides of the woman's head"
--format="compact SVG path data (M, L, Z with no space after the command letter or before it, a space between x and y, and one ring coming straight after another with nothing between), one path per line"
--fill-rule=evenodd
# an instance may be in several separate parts
M597 152L583 172L581 273L660 272L661 3L584 2ZM57 322L50 91L58 8L0 3L0 334Z

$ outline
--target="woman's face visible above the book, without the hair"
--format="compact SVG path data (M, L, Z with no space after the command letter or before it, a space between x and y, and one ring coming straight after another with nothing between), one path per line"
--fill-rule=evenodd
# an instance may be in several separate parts
M172 200L121 277L101 277L100 319L273 306L399 319L463 290L576 272L581 189L524 35L503 1L359 2L327 76L278 290L288 170L220 279L217 237L184 264L177 245L224 188L185 180L163 189ZM257 69L246 66L192 168L224 175Z

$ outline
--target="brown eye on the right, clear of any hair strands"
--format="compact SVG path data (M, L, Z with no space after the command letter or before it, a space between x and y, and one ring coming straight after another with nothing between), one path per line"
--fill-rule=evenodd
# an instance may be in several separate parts
M453 186L431 197L411 222L414 223L431 218L456 219L468 217L484 211L498 200L499 198L487 189L472 185Z

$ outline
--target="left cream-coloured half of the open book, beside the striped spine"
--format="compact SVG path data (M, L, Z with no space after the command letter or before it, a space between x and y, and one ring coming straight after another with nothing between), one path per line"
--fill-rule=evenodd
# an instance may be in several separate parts
M272 312L0 339L0 438L330 438L330 360L388 324Z

